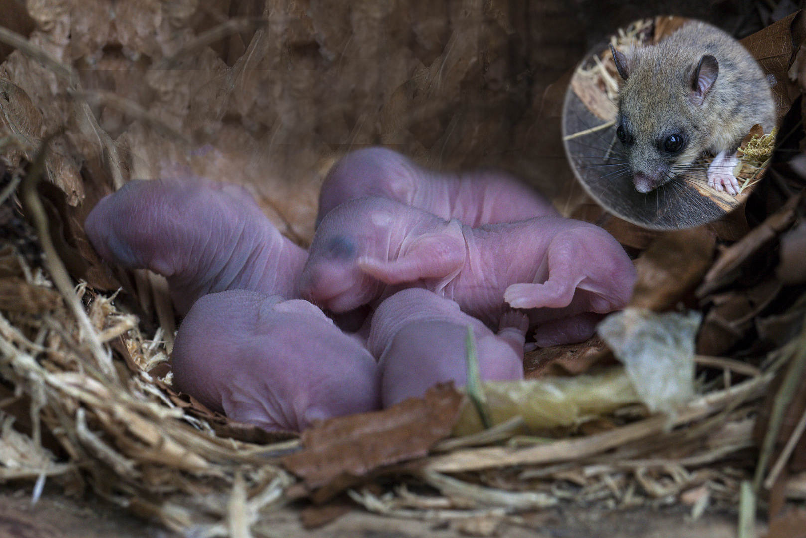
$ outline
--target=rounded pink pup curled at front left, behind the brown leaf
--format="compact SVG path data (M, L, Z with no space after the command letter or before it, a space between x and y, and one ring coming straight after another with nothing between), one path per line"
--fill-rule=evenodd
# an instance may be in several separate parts
M182 321L172 370L208 408L269 431L380 408L375 358L305 300L203 296Z

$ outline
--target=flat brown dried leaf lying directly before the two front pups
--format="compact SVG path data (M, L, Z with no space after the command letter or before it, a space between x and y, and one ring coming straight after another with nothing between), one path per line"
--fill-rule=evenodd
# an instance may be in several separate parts
M305 430L305 448L282 463L315 488L424 456L451 433L462 399L451 385L441 385L381 412L326 420Z

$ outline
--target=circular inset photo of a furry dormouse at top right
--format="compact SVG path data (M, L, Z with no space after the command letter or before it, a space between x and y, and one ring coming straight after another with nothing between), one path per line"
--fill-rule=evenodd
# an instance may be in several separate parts
M620 29L576 68L563 142L602 207L679 230L746 200L772 153L775 108L765 73L736 39L657 17Z

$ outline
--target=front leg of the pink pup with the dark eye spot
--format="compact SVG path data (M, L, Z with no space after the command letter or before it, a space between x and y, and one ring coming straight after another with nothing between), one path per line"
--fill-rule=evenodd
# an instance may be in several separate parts
M467 255L463 235L454 233L454 228L459 225L451 221L444 230L420 235L401 250L397 259L362 256L358 266L367 275L387 284L453 278L462 269Z

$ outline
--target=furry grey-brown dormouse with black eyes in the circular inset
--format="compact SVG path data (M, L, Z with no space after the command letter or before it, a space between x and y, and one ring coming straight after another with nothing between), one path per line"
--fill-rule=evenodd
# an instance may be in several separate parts
M618 52L616 135L638 192L691 172L705 152L708 186L736 195L734 156L755 123L775 125L770 85L750 52L706 23L690 22L649 47Z

